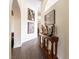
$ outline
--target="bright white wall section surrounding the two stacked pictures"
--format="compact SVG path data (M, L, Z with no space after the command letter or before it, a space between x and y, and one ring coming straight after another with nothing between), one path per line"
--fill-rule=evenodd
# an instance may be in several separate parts
M38 7L39 7L39 2L36 0L23 0L22 1L21 43L37 38L37 17L38 17L37 11L38 11ZM34 33L32 33L32 34L27 34L27 29L28 29L27 22L29 22L29 20L27 19L28 8L35 11L35 21L34 21L35 29L34 29Z

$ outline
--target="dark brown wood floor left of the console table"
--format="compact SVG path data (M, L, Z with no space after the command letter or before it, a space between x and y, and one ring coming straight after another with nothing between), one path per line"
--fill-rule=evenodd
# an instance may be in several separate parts
M25 42L22 47L14 48L12 59L47 59L38 44L38 39Z

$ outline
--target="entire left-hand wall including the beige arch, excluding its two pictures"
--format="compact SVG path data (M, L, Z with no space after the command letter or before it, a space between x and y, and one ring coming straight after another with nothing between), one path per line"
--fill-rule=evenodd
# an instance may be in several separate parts
M22 43L31 39L37 38L37 12L40 7L39 0L11 0L10 1L10 12L14 9L14 16L10 15L10 32L15 32L15 43L14 47L20 47ZM27 34L27 9L30 8L35 11L35 32ZM19 21L20 20L20 21ZM17 33L17 34L16 34Z

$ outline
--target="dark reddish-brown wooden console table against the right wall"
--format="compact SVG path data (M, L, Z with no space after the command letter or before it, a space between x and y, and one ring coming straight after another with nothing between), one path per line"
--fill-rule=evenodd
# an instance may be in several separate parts
M58 59L57 57L58 39L59 38L57 36L50 37L48 35L39 34L40 47L43 49L48 59Z

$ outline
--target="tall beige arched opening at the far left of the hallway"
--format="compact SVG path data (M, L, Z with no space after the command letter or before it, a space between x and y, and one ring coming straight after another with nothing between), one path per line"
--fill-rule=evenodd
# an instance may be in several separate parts
M14 33L13 48L21 45L21 12L17 0L13 0L11 10L11 33Z

